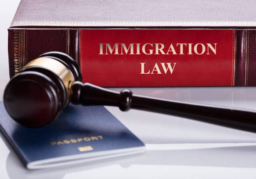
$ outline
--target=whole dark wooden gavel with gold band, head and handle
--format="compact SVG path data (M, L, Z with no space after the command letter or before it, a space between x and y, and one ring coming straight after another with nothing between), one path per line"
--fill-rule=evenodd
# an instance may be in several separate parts
M153 111L256 132L255 111L145 97L134 95L129 89L116 92L83 84L76 61L60 52L47 52L30 61L11 78L4 90L8 114L27 127L49 124L69 102L84 106L118 106L122 111L130 108Z

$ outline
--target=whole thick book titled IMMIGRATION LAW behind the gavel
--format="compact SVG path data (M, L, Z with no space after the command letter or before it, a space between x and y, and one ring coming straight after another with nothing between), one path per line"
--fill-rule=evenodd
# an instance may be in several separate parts
M21 0L9 31L13 76L47 51L98 86L256 86L256 3Z

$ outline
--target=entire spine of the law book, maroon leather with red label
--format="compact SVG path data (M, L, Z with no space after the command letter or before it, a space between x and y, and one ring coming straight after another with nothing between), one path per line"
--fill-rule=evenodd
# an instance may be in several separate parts
M47 51L98 86L256 86L256 31L9 29L10 77Z

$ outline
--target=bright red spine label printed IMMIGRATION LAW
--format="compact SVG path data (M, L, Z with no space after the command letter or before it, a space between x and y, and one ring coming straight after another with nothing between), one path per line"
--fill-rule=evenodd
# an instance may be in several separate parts
M234 86L234 30L82 29L83 82Z

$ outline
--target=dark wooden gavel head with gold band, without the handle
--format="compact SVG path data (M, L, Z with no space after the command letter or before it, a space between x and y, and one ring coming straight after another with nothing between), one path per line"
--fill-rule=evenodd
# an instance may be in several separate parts
M72 57L60 52L42 54L11 78L4 90L4 106L22 125L46 125L68 104L75 81L82 81L82 75Z

